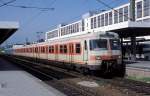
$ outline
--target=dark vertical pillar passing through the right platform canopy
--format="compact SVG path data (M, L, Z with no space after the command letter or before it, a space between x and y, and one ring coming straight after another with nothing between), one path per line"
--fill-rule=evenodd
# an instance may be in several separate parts
M135 22L135 0L130 0L130 21ZM136 36L131 36L131 59L136 60Z

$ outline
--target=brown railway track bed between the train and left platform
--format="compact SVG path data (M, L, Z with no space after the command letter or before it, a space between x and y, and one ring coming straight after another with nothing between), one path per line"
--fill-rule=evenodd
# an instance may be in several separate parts
M21 66L32 70L32 72L34 71L34 73L40 74L42 78L46 78L45 82L47 84L57 88L68 96L101 96L101 94L105 96L150 95L150 84L139 81L124 78L104 79L91 75L84 76L78 72L68 71L50 65L43 65L16 57L13 57L12 61L17 61ZM87 88L78 85L74 80L94 81L100 86L99 88ZM110 93L108 94L108 92Z

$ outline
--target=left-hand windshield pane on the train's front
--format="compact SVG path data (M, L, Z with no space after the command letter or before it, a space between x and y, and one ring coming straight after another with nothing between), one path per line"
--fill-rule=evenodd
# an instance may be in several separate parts
M108 50L107 39L90 40L90 50L94 50L94 51Z

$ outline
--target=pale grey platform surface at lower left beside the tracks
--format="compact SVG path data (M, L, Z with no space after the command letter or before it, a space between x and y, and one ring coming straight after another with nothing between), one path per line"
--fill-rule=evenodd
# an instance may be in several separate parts
M38 78L0 58L0 96L65 96Z

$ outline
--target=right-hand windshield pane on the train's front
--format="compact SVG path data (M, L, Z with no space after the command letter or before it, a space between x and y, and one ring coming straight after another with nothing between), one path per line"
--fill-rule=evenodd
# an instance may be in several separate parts
M110 39L110 46L112 50L121 50L119 39Z

